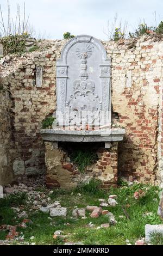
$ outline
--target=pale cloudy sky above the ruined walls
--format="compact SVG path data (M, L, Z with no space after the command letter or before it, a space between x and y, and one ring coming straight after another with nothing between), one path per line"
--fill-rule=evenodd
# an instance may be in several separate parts
M114 20L128 21L128 30L133 31L140 20L155 26L163 20L162 0L26 0L26 14L29 23L38 34L48 39L61 39L64 32L89 34L107 40L107 23ZM7 0L0 0L7 17ZM11 16L15 17L16 3L23 9L24 0L10 0ZM118 23L117 23L118 25Z

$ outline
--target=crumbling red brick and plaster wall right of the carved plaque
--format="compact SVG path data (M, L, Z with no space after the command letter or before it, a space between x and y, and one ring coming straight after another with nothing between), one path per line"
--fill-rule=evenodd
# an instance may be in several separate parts
M112 55L112 109L127 130L118 148L119 175L154 182L158 170L162 41L143 36L106 49Z

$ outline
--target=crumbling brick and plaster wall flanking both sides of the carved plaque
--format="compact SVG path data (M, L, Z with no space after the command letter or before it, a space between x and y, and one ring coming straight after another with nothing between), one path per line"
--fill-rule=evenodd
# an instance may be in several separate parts
M45 172L40 128L56 107L55 60L65 43L43 41L45 51L7 56L1 65L14 102L11 159L16 175ZM151 35L103 45L112 56L112 111L118 113L116 123L127 131L118 147L119 175L150 182L156 177L159 183L163 40ZM41 87L36 87L36 67L43 70Z

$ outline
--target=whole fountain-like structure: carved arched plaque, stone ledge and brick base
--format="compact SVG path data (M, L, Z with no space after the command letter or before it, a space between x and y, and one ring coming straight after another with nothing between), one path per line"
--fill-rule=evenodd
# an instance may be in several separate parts
M76 36L62 49L56 76L56 119L53 129L41 131L46 144L47 185L74 187L83 175L115 184L117 144L125 130L111 128L111 57L107 58L99 40L90 35ZM85 147L86 143L103 142L92 173L79 174L66 165L66 153L58 147L59 142L85 143Z

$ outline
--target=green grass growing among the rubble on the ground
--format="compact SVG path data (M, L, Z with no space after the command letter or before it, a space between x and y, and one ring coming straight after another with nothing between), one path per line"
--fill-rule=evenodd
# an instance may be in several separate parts
M145 191L145 196L140 199L133 197L137 190ZM80 194L79 194L80 193ZM86 219L72 218L72 211L75 207L85 208L86 205L99 206L99 198L108 199L109 194L117 194L118 205L114 208L105 207L111 211L117 220L116 225L110 225L109 228L101 228L102 223L107 223L108 217L100 216L99 218L91 218L90 213L86 212ZM155 186L134 184L132 186L111 187L109 191L101 190L100 183L97 180L90 180L89 184L82 184L73 191L54 190L50 194L51 203L59 200L61 206L67 208L66 217L49 217L49 214L38 211L28 211L29 219L32 224L28 224L26 229L18 228L19 232L24 235L24 242L35 242L36 245L64 245L63 240L53 239L54 231L62 230L66 236L66 241L82 242L84 245L125 245L126 240L131 244L135 244L136 240L145 236L145 224L162 224L161 218L156 214L159 204L159 189ZM21 223L22 220L12 211L12 206L26 206L26 195L11 195L0 200L1 224L15 225ZM127 211L129 219L124 215L123 208ZM152 212L152 216L146 216L146 212ZM119 216L123 215L123 218ZM90 227L89 223L93 224ZM68 225L66 224L68 223ZM6 231L0 230L0 239L5 239ZM30 237L34 236L33 240ZM16 242L16 241L15 241ZM162 245L162 237L155 235L152 243Z

